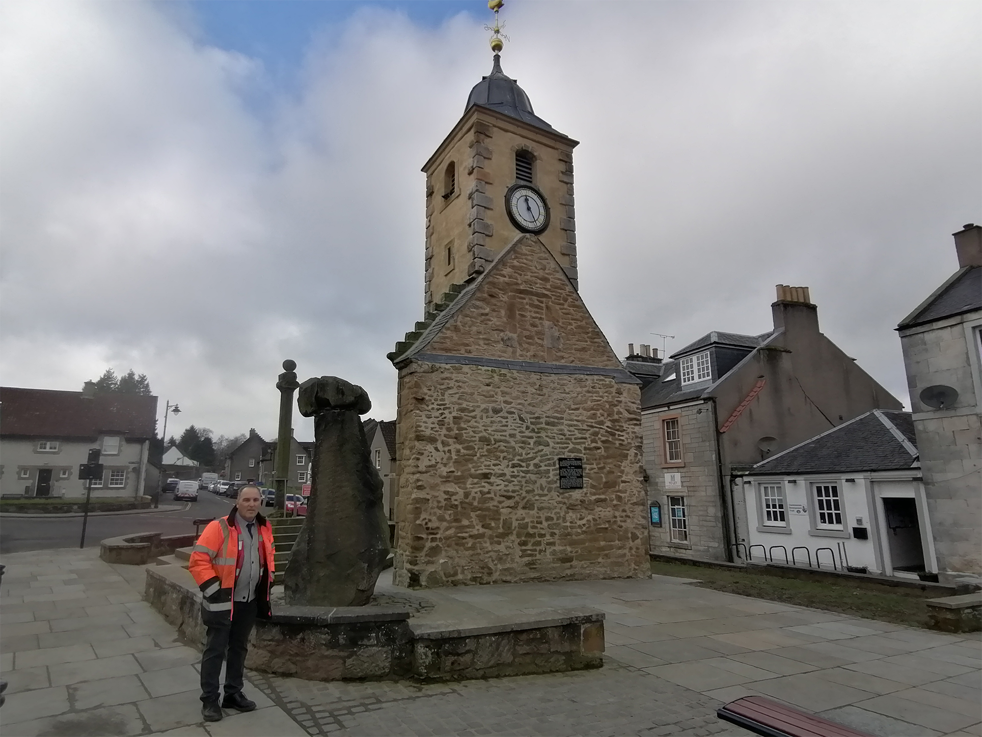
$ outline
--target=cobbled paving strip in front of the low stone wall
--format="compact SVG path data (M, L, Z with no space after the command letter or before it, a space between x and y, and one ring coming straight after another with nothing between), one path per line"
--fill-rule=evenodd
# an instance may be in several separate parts
M249 672L312 735L749 735L721 703L608 659L598 670L456 683L316 682Z

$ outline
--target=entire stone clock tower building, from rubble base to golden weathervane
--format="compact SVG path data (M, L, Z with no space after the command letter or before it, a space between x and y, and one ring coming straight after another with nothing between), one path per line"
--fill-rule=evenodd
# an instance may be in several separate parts
M423 167L425 314L388 355L393 580L647 578L640 382L577 289L576 142L502 71L493 30L491 74Z

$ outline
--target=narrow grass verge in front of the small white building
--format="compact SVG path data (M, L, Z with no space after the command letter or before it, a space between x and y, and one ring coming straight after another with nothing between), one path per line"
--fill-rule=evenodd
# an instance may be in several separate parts
M702 583L696 586L728 594L809 606L908 627L927 625L927 607L924 605L923 595L918 592L907 594L899 589L896 594L887 594L858 589L847 581L798 581L750 571L697 568L683 563L656 560L651 561L651 572L659 576L699 579Z

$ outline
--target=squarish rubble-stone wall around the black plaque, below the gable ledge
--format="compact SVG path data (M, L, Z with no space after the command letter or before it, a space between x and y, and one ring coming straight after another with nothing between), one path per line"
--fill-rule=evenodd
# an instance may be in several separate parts
M638 403L604 376L402 369L396 583L648 576ZM566 456L584 488L560 490Z

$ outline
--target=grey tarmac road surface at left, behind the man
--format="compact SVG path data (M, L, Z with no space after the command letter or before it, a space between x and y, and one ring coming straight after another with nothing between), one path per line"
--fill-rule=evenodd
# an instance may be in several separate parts
M171 494L161 497L164 504L174 502ZM96 547L106 538L136 533L186 535L194 532L191 521L201 517L220 517L229 513L234 500L199 491L197 501L189 509L149 514L120 514L88 518L85 547ZM78 547L82 539L82 517L53 518L38 515L37 519L4 517L0 520L0 553L45 550L52 547Z

